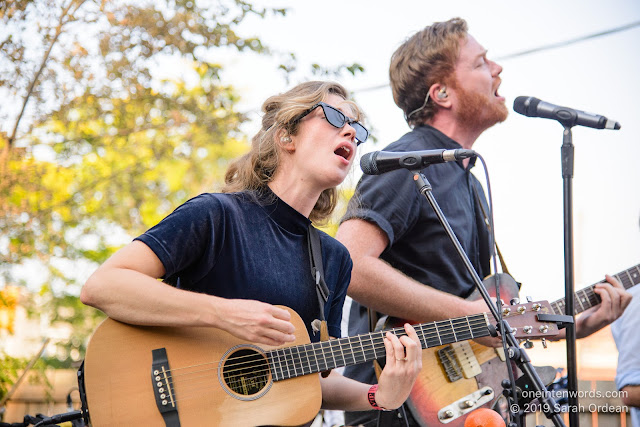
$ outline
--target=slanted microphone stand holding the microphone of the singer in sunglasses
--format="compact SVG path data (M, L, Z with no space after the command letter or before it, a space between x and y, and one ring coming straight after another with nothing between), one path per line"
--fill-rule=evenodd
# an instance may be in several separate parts
M426 166L429 166L429 165L427 164ZM413 173L413 180L418 186L418 190L427 199L427 201L433 208L436 216L440 220L440 223L442 224L447 235L449 236L449 239L455 246L456 252L460 256L460 259L464 263L467 271L473 278L476 288L480 292L480 295L482 295L482 298L487 303L487 306L489 307L491 314L498 322L498 328L500 330L500 333L505 336L510 346L507 351L507 356L509 357L509 359L513 360L516 363L516 365L520 368L520 370L522 370L524 375L528 377L531 385L536 391L536 395L540 396L539 399L540 399L541 407L545 412L546 417L550 418L556 427L564 427L565 424L563 423L562 418L560 417L560 413L559 413L560 408L558 404L555 402L555 400L550 395L550 393L547 392L547 388L545 384L542 382L535 368L531 364L531 359L529 359L529 356L527 355L527 353L524 351L524 349L519 347L519 343L516 340L515 335L511 331L511 327L509 326L507 321L506 320L501 321L501 317L500 317L500 314L498 313L498 309L491 301L491 297L489 296L489 293L487 292L484 285L482 284L482 280L480 280L480 277L478 277L478 273L473 268L471 261L469 261L469 257L464 252L464 248L458 241L458 238L456 237L455 233L453 232L453 229L449 225L449 222L445 218L444 213L442 212L442 210L440 209L440 206L436 202L436 199L432 193L433 188L431 187L431 184L427 180L427 177L420 170L412 170L411 172ZM515 384L511 384L511 387L515 387ZM512 406L514 405L509 405L510 410ZM522 412L522 411L523 409L520 408L518 412ZM517 416L522 414L513 414L513 415ZM519 425L521 425L522 420L520 419L520 417L517 416L516 418L518 419Z

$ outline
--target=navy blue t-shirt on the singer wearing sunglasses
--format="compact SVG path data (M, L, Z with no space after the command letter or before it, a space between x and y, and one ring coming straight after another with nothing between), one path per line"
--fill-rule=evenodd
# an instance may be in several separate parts
M308 218L270 190L201 194L137 237L160 259L164 281L224 298L259 300L296 311L307 326L320 309L307 249ZM347 249L319 231L329 334L340 337L342 305L351 278Z

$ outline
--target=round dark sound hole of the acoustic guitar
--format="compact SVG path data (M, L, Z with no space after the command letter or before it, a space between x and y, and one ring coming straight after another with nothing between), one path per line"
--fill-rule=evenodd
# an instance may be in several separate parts
M222 368L224 382L233 392L251 396L259 393L269 381L269 364L255 350L240 349L233 352Z

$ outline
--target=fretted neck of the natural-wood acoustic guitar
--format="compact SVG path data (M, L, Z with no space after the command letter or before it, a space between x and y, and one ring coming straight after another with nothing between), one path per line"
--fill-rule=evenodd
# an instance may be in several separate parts
M422 348L451 344L457 341L489 335L486 313L458 317L413 327ZM393 328L369 334L329 341L279 348L267 353L274 381L308 375L369 362L385 357L384 337L391 332L397 337L407 335L404 328Z

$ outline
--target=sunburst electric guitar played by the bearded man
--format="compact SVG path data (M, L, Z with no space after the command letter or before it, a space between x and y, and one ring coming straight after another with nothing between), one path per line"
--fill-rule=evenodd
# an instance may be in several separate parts
M506 274L498 276L501 278L500 298L505 301L517 298L518 285L515 280ZM489 276L484 280L490 292L495 286L494 277ZM640 283L640 264L614 277L625 289L629 289ZM574 294L576 314L600 303L594 288L595 284ZM552 302L551 307L553 314L565 314L564 298ZM511 324L511 320L507 320ZM391 324L396 324L396 321ZM407 401L412 415L422 426L463 426L467 413L496 403L502 391L501 381L508 378L504 361L502 349L485 347L472 341L423 351L423 368ZM487 396L491 398L487 399Z

